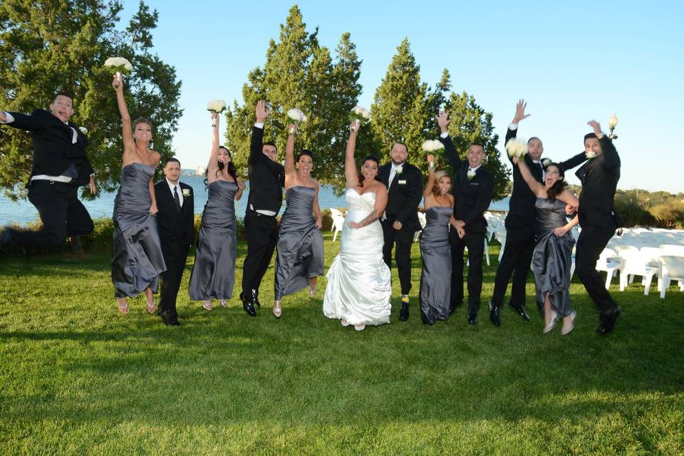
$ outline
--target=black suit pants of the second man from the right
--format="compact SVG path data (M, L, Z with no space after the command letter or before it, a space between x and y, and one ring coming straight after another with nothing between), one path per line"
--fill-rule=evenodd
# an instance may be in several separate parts
M516 307L525 304L527 273L532 262L532 252L534 252L534 234L506 239L504 253L497 268L497 276L494 279L492 306L501 307L511 276L513 276L513 284L510 303Z

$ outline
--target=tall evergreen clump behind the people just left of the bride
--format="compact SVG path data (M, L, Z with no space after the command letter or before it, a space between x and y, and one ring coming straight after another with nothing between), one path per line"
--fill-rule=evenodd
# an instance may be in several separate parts
M333 60L328 48L318 43L318 29L307 32L301 11L293 6L280 26L279 41L269 43L264 67L249 72L242 87L244 103L234 100L226 115L226 140L240 174L247 176L254 106L264 98L273 108L264 126L264 140L274 141L279 156L284 157L290 122L286 112L290 108L303 110L308 120L300 125L297 147L314 152L314 175L318 180L343 187L340 164L348 113L361 93L360 68L349 33L342 35Z

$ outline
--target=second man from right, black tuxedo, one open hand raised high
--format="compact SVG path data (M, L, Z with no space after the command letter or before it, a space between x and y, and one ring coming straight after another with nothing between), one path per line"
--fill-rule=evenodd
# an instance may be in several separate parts
M516 137L520 121L529 117L529 114L525 114L525 108L527 108L525 100L519 100L516 105L513 122L508 126L504 145ZM527 163L528 169L532 172L532 176L542 184L544 183L545 170L541 161L541 154L543 152L544 146L541 144L541 140L534 137L529 138L527 141L527 155L525 155L524 160ZM584 160L586 160L586 157L582 153L572 157L570 160L559 163L559 166L565 171L580 165ZM489 303L489 319L495 326L501 325L500 309L511 276L513 276L513 281L511 299L508 301L508 305L521 318L529 321L529 316L527 316L525 311L525 289L527 286L527 273L532 261L532 252L534 252L534 231L537 219L537 209L534 204L536 201L537 196L534 195L532 190L529 190L529 185L520 175L519 168L513 166L513 192L511 193L509 212L505 222L506 244L504 245L501 262L497 268L497 276L494 279L492 301Z

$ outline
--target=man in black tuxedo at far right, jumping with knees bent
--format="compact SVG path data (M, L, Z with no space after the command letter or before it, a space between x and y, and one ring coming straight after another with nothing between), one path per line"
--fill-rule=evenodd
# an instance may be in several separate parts
M575 173L582 182L579 195L582 230L577 239L575 264L579 279L601 311L597 331L605 336L615 328L622 309L606 290L601 274L596 271L596 261L616 228L622 226L614 208L621 163L613 142L601 132L601 125L595 120L589 125L594 133L584 136L584 148L590 160Z

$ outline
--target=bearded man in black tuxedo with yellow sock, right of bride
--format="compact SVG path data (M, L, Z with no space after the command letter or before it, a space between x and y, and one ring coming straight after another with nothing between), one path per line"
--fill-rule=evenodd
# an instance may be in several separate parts
M380 167L378 175L387 187L387 207L382 218L385 246L383 257L392 269L392 249L397 245L395 260L401 285L400 321L408 320L408 293L411 291L411 244L420 227L418 204L423 199L423 173L406 161L408 147L395 142L390 150L392 161Z

